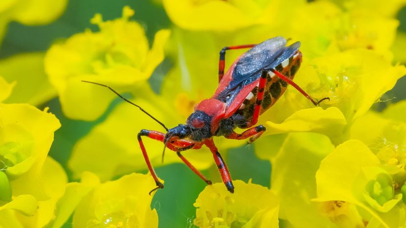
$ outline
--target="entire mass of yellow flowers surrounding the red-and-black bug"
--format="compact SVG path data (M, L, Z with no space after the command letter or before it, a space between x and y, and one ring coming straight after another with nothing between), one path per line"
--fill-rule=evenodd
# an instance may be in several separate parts
M260 116L267 130L254 142L255 154L272 164L271 188L251 180L233 180L233 194L223 183L206 186L193 204L194 225L406 227L406 102L372 108L406 75L400 64L406 36L395 19L405 1L155 2L173 25L157 30L152 42L148 27L125 6L121 18L96 14L97 31L58 40L46 53L0 60L0 227L157 228L160 212L151 209L154 192L148 195L156 183L134 172L146 169L137 133L162 126L126 102L113 102L107 88L83 81L110 86L173 127L212 96L223 47L275 36L301 42L295 82L316 100L329 100L315 107L288 86ZM10 21L46 24L66 3L0 3L0 40ZM226 66L243 51L227 51ZM94 125L71 142L67 167L48 156L59 120L37 108L56 96L64 116ZM245 143L214 140L223 155ZM144 144L154 167L182 162L168 153L162 163L162 143ZM198 170L217 169L207 148L184 156Z

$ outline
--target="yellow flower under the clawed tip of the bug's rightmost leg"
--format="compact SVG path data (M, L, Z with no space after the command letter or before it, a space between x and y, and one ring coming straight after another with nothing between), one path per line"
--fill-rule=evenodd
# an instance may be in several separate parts
M306 84L301 82L306 78L309 88L307 91L316 94L315 97L330 97L330 101L321 105L333 107L325 110L299 109L281 124L276 124L280 121L278 116L266 113L263 118L271 120L267 122L267 134L313 131L326 134L334 144L339 144L348 139L348 129L352 123L406 74L404 66L392 66L380 54L360 49L315 58L309 64L313 66L303 66L298 72L297 83ZM317 77L321 78L321 86L314 86L310 82ZM291 89L285 94L285 99L278 101L274 108L299 106L305 102L309 103L300 93Z

